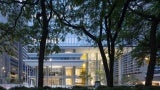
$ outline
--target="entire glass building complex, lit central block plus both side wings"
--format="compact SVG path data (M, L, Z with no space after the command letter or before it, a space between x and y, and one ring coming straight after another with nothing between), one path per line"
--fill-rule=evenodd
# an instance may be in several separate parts
M101 81L102 85L106 85L101 55L97 47L71 36L66 37L65 42L59 42L59 46L59 53L45 56L44 86L88 86L94 85L95 81ZM18 80L17 82L24 82L27 86L38 85L38 55L37 52L29 52L28 49L19 48L18 58L6 53L1 56L1 83L15 83ZM115 60L115 85L132 85L145 81L147 63L139 67L136 59L131 57L132 49L125 47L123 55ZM159 80L160 64L157 62L154 85L160 85Z

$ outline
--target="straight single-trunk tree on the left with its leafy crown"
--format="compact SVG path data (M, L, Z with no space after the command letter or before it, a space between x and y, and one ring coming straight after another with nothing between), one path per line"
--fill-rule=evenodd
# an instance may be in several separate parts
M34 40L38 38L37 41L40 41L40 50L39 50L39 58L38 58L38 87L43 87L43 62L44 55L46 49L46 39L48 37L49 32L56 32L54 27L54 19L52 23L49 23L52 19L52 0L0 0L0 9L1 13L8 17L8 24L14 32L14 30L18 30L21 36L27 36L26 39L30 38ZM4 9L5 8L5 9ZM14 16L14 17L13 17ZM23 21L20 22L20 21ZM11 23L12 22L12 23ZM24 25L26 27L30 27L31 29L24 29ZM52 24L52 27L49 25ZM26 32L22 34L20 27L24 29ZM40 27L40 28L37 28ZM11 30L12 30L11 29ZM57 31L58 32L58 31ZM7 33L9 34L9 33ZM38 37L35 37L38 36ZM40 36L40 38L39 38ZM52 35L50 35L52 36ZM53 37L53 36L52 36ZM21 38L21 37L19 37ZM23 40L23 39L21 39ZM23 42L23 41L22 41ZM54 46L54 45L52 45Z

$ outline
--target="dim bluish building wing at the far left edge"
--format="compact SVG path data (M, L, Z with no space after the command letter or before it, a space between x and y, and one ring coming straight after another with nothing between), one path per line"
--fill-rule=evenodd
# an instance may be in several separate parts
M23 82L26 49L20 43L15 43L15 47L15 55L8 55L6 52L0 55L0 84Z

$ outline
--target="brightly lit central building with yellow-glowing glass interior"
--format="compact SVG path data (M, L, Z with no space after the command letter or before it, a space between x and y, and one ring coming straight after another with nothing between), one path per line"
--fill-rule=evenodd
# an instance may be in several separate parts
M44 86L94 85L104 80L99 50L94 47L61 47L60 53L46 56L44 61ZM28 53L25 82L37 86L37 53ZM103 78L102 78L102 77ZM105 84L105 83L104 83Z

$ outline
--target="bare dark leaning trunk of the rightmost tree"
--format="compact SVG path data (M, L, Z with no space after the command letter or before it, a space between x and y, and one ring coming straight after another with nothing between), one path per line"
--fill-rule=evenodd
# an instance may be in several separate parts
M154 67L156 64L156 53L157 53L157 44L156 44L156 30L158 26L158 21L153 20L150 31L150 61L147 69L147 76L145 81L145 86L151 86L154 76Z

